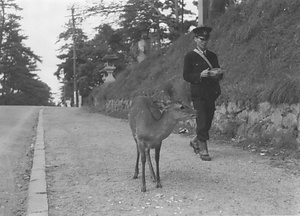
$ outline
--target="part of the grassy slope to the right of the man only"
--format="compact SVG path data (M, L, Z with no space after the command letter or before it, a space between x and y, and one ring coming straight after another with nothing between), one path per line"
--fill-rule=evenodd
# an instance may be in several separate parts
M299 102L291 91L283 93L295 85L292 81L297 80L300 69L295 40L299 11L296 0L243 1L215 20L212 48L226 71L223 86L227 98L257 102L275 102L277 98L276 104ZM285 87L279 83L285 83Z

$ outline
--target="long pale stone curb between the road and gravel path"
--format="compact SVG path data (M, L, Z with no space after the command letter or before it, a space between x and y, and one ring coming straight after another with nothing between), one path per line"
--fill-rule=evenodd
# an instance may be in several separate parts
M43 109L39 111L33 164L28 189L27 216L48 216Z

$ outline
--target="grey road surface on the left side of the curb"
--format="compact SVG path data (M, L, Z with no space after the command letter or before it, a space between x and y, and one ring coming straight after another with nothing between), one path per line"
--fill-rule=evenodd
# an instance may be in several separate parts
M26 211L28 155L39 107L0 106L0 215Z

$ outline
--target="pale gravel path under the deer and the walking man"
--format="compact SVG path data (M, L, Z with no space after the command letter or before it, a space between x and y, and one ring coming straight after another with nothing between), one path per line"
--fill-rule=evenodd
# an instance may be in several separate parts
M300 214L299 173L222 141L210 142L204 162L188 137L172 134L161 150L163 188L147 167L142 193L127 121L47 108L44 130L50 216Z

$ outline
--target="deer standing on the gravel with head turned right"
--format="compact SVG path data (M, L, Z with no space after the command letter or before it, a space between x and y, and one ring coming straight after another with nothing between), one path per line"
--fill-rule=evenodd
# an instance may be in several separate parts
M148 161L150 174L156 187L161 188L159 174L159 158L162 140L166 139L179 121L196 117L196 110L179 101L161 103L162 111L158 104L147 96L138 96L132 103L129 111L129 125L136 143L137 157L133 179L138 178L139 158L142 163L142 188L146 192L145 163ZM156 175L153 170L150 149L155 149Z

